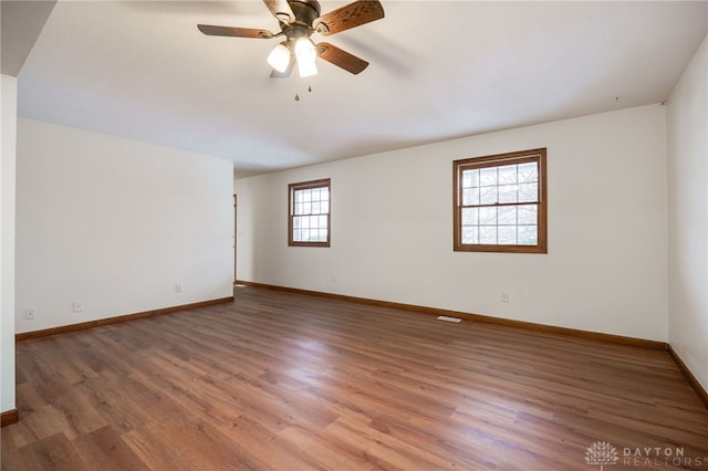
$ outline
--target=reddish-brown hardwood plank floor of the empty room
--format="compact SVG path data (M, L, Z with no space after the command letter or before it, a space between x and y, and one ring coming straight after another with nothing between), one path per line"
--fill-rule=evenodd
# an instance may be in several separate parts
M708 470L666 352L257 287L21 342L17 380L2 470Z

